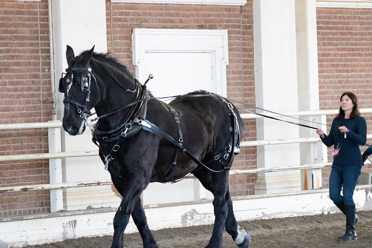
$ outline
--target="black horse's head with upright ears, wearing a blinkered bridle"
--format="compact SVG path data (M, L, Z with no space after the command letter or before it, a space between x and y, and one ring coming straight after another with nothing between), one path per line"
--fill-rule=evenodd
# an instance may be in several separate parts
M90 66L93 50L94 46L75 57L73 49L67 46L68 68L66 75L60 79L59 91L65 94L62 126L70 135L84 132L85 120L101 98L96 77Z

